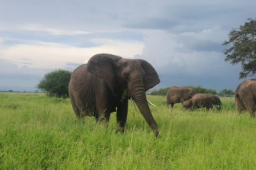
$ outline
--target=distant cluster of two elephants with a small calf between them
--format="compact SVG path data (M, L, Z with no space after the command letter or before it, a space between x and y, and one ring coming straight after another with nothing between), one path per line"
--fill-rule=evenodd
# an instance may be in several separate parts
M191 100L190 100L191 99ZM192 107L202 108L206 107L206 110L213 109L213 105L219 105L217 110L221 109L222 103L218 96L213 94L196 94L196 91L187 87L174 86L167 91L166 105L173 107L174 103L182 103L182 107L185 110L191 110Z

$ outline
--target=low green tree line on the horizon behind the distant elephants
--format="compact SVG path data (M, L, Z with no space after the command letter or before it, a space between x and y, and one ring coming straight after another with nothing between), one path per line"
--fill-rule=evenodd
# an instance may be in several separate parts
M194 89L196 91L197 94L213 94L213 95L218 95L220 97L233 97L235 92L231 89L223 89L221 90L219 93L217 93L216 90L214 89L206 89L203 88L202 86L193 86L193 85L189 85L186 86L188 88ZM160 96L166 96L167 91L170 89L171 87L165 87L165 88L159 88L158 90L154 89L154 90L150 90L148 92L149 95L160 95Z

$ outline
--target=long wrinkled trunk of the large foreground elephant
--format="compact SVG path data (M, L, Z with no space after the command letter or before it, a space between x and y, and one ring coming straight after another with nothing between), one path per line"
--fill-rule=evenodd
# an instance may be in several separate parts
M130 95L132 99L134 99L142 116L145 118L148 125L155 133L156 137L158 137L158 133L159 133L158 125L154 120L154 117L151 114L151 111L149 109L145 89L143 86L143 81L140 79L136 81L131 81L129 84L130 86L128 86L128 90L130 91Z

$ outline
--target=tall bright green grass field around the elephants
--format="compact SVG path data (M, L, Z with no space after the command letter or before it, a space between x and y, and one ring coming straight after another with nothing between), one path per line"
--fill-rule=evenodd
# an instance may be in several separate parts
M220 111L183 112L148 96L161 138L129 102L124 134L116 115L108 128L76 122L69 99L0 92L0 169L255 169L256 120L236 114L234 98Z

